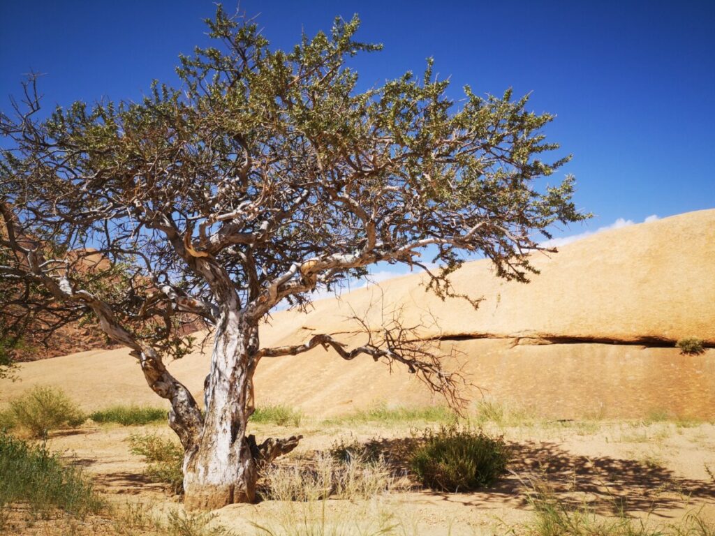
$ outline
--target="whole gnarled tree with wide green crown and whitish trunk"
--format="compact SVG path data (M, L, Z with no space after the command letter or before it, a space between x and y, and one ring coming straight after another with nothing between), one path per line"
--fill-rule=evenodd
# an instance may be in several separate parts
M422 79L357 91L347 61L380 49L355 41L357 17L288 52L221 8L207 24L217 47L180 57L176 89L154 84L139 103L76 102L36 119L31 79L0 117L12 140L0 168L0 284L16 305L39 292L95 317L132 349L171 402L187 507L254 500L257 465L297 444L247 435L265 357L322 344L404 364L457 397L457 377L399 326L355 348L330 333L262 347L260 323L278 304L305 307L315 289L378 262L427 269L425 248L443 265L428 271L440 297L453 294L449 274L465 253L526 281L539 235L584 217L571 177L536 190L568 158L541 159L558 147L541 133L553 116L528 111L526 97L465 87L455 103L431 61ZM188 351L179 328L192 315L213 327L204 415L164 366Z

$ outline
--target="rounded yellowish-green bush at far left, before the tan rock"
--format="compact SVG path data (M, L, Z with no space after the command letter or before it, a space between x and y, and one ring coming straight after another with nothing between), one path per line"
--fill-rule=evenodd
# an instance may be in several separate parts
M57 428L75 428L87 420L79 406L57 387L34 387L10 402L9 415L14 425L25 428L32 437L44 437Z

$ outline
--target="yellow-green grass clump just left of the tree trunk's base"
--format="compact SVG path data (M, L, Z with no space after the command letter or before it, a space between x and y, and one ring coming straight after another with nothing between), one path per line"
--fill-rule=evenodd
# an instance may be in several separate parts
M156 434L131 435L129 445L132 454L144 457L147 476L152 481L168 484L174 493L183 491L184 450L181 445Z

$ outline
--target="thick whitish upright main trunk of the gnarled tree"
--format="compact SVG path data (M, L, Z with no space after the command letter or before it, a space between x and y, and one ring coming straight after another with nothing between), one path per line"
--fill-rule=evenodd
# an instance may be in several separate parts
M257 470L246 425L252 412L257 327L240 314L222 318L215 335L206 386L204 427L184 455L184 506L214 510L234 502L253 502Z

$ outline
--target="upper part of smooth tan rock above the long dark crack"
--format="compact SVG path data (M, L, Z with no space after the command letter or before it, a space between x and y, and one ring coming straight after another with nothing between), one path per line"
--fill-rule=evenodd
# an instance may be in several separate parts
M345 322L353 311L368 311L379 325L385 310L401 307L407 324L436 319L423 337L715 344L715 210L594 234L557 254L533 254L533 264L541 274L529 284L498 279L487 261L465 264L453 275L455 289L483 298L477 310L465 300L440 301L425 293L423 276L411 275L317 302L291 322L345 332L356 329Z

